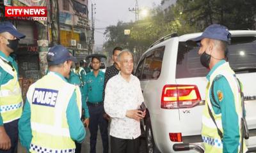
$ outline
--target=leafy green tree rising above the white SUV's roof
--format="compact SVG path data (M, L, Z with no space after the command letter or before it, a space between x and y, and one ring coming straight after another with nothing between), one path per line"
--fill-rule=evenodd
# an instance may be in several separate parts
M118 22L105 31L104 47L111 55L115 46L129 48L138 62L143 52L163 36L204 31L211 24L226 25L228 29L255 29L255 0L177 0L170 10L150 10L150 17L136 22ZM129 36L124 30L130 29Z

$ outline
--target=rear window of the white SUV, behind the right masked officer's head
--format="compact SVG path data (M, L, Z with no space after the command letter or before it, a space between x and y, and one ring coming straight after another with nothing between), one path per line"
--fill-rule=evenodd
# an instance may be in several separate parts
M236 73L256 72L256 37L232 37L228 62ZM199 47L179 42L176 78L205 77L209 72L200 63Z

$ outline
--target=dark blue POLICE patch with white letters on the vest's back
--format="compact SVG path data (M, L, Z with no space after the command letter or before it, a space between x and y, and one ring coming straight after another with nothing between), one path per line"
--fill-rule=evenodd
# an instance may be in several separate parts
M35 88L32 104L55 107L58 91L52 89Z

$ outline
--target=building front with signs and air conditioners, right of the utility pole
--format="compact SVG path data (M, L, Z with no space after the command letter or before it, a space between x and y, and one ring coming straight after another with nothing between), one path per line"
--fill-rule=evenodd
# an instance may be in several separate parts
M59 0L60 43L78 59L88 55L90 25L87 0Z

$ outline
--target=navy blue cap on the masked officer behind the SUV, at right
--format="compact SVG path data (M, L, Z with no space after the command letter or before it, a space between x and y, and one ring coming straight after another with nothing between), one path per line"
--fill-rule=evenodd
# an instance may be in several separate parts
M220 24L212 24L205 29L201 36L193 38L192 40L201 41L204 38L210 38L214 40L227 41L227 43L230 43L230 37L231 34L229 33L227 27Z

